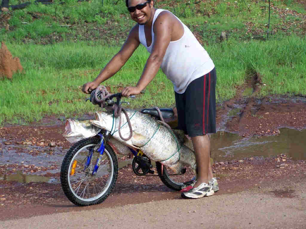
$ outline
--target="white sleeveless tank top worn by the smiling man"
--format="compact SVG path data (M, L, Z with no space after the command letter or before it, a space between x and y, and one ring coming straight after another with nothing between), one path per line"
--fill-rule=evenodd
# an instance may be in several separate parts
M162 11L168 10L156 9L155 11L152 22L152 42L149 47L147 46L144 34L144 25L139 25L139 41L146 47L149 53L151 53L154 43L153 25L157 16ZM181 22L179 18L177 19ZM189 28L184 23L182 25L184 27L183 36L177 41L170 42L161 64L163 73L173 83L174 91L179 94L185 92L190 82L207 74L215 67L208 53Z

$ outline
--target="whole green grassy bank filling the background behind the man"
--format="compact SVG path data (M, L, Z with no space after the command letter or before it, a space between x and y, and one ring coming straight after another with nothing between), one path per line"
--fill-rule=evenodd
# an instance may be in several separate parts
M253 75L259 77L256 97L306 95L304 8L293 1L271 2L269 30L265 2L172 1L159 2L158 7L179 16L213 59L219 102L233 98L236 88ZM23 10L2 12L0 40L20 58L24 72L15 74L13 80L0 80L0 124L98 109L84 102L88 95L81 93L80 87L93 80L118 52L133 21L123 1L116 5L112 1L66 4L33 3ZM279 16L282 12L287 15ZM226 32L223 42L221 31ZM103 85L110 86L113 93L135 85L147 57L147 51L139 47ZM130 107L170 107L175 103L172 84L161 71L146 93L125 100Z

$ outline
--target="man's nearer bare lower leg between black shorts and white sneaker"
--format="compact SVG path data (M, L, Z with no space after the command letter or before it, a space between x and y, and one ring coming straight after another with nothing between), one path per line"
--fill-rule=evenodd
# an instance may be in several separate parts
M208 184L213 177L210 163L210 138L208 135L192 137L193 148L196 153L196 165L198 169L196 184L198 187L202 183Z

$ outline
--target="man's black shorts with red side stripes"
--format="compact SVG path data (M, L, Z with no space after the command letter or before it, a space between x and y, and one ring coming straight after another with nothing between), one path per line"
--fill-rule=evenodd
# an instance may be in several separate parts
M216 133L215 68L193 80L183 94L175 92L178 128L190 137Z

